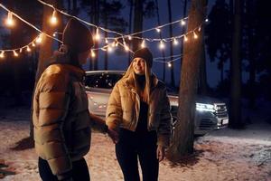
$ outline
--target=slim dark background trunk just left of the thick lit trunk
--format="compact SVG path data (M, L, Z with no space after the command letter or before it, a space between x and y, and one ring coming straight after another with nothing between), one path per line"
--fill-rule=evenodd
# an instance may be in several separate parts
M173 22L172 18L172 5L171 0L167 0L167 8L168 8L168 22ZM169 25L169 32L170 37L173 37L173 24ZM171 54L171 61L173 61L173 42L170 45L170 54ZM171 85L175 87L175 77L174 77L174 62L171 62Z

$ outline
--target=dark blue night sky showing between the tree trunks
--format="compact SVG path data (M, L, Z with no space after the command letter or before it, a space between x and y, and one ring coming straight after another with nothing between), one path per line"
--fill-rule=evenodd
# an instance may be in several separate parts
M123 2L126 2L125 0L122 0ZM209 0L208 5L208 12L210 12L211 6L214 5L215 0ZM161 24L168 24L168 10L167 10L167 1L166 0L158 0L159 3L159 14L161 18ZM126 4L126 3L124 3ZM172 0L172 13L173 13L173 21L182 19L182 0ZM126 17L126 21L128 22L128 12L129 7L126 6L122 10L122 15ZM1 14L5 14L5 10L1 9ZM3 15L2 15L3 17ZM79 17L85 20L89 20L89 17L86 17L84 13L82 12L79 14ZM2 18L3 19L3 18ZM149 29L156 27L157 24L157 17L154 16L153 18L148 18L144 20L144 26L143 29ZM164 38L169 37L169 26L164 27L162 30L162 34ZM180 24L174 24L173 25L173 35L180 35L181 34L181 25ZM151 37L151 38L159 38L158 33L155 31L144 33L143 37ZM2 42L2 41L1 41ZM0 43L1 44L1 43ZM170 56L170 48L169 43L166 43L165 48L165 56ZM158 43L147 43L147 47L151 49L151 51L154 54L154 57L161 57L162 52L158 48ZM121 48L120 48L121 49ZM124 50L123 50L124 51ZM181 47L180 45L177 45L173 49L173 54L180 54ZM99 70L102 70L104 67L104 52L100 51L99 53L99 60L98 60L98 68ZM208 56L207 56L208 59ZM167 60L169 61L169 59ZM227 65L226 65L227 66ZM88 65L86 67L89 67ZM116 53L111 52L109 53L109 61L108 61L108 69L109 70L126 70L127 68L127 53L125 52L123 55L116 55ZM226 70L229 69L226 67ZM154 62L153 66L154 73L158 76L158 78L162 79L163 75L163 63L162 62ZM210 84L210 87L215 87L218 84L218 81L220 80L220 71L217 69L217 63L216 62L210 62L209 59L207 60L207 76L208 76L208 83ZM174 62L174 74L175 74L175 80L176 85L179 84L180 80L180 60L177 60ZM170 68L166 66L166 82L170 82Z

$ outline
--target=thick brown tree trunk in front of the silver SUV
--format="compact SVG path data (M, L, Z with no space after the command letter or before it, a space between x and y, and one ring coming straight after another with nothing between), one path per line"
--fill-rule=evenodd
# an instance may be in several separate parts
M194 30L203 22L205 6L206 0L192 0L188 31ZM173 134L173 143L168 152L168 158L173 162L182 161L182 156L193 152L195 95L203 43L202 32L196 33L199 35L198 39L193 39L193 34L190 33L188 35L189 42L184 43L183 47L177 122Z

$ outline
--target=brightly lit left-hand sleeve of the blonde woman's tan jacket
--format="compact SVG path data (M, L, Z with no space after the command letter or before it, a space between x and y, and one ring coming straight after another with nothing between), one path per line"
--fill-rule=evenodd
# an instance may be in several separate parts
M107 104L106 124L108 129L118 129L122 121L122 108L118 83L114 86Z

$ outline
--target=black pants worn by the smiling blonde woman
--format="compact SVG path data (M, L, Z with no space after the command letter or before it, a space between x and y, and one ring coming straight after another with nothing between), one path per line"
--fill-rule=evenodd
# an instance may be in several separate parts
M116 144L117 161L125 181L139 181L137 157L144 181L157 181L159 162L156 158L156 132L137 133L120 129Z

